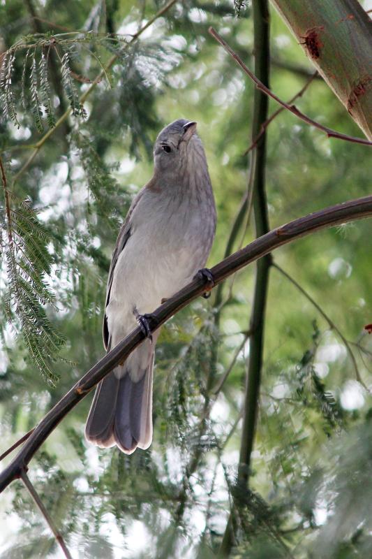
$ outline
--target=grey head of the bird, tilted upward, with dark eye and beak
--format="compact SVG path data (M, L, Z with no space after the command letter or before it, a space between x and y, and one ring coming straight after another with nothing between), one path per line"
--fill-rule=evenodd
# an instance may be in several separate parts
M192 163L194 152L203 152L196 134L196 122L179 119L171 122L159 133L154 146L155 170L177 173Z

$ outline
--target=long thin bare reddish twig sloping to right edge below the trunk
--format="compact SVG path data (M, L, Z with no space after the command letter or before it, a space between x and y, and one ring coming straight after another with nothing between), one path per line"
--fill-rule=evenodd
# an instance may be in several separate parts
M279 97L276 94L271 92L271 89L266 87L254 75L254 73L251 72L251 70L246 66L246 64L244 64L244 62L236 54L236 52L234 52L232 50L232 48L228 45L228 43L226 43L223 40L223 38L220 35L218 35L217 31L213 27L209 27L209 33L211 34L212 37L214 37L216 39L216 41L218 41L218 43L220 43L220 45L223 46L223 48L226 50L226 52L228 52L229 55L231 55L232 58L235 59L235 61L237 61L237 64L239 64L239 66L242 68L242 70L251 78L251 80L253 80L253 82L255 82L255 85L256 85L257 89L260 89L260 91L265 93L265 95L267 95L268 97L271 97L271 99L274 99L274 101L276 101L276 103L279 103L279 105L281 105L283 108L292 112L293 115L295 115L297 118L303 120L304 122L306 122L306 124L310 124L311 126L315 126L315 128L318 128L319 130L321 130L322 132L327 134L328 138L338 138L338 140L345 140L347 142L363 144L363 145L372 145L372 142L370 142L369 140L365 140L364 138L357 138L356 136L348 136L348 134L343 134L341 132L337 132L336 130L332 130L331 128L327 128L327 126L323 126L322 124L320 124L320 122L317 122L316 120L313 120L312 118L305 115L304 112L301 112L300 110L298 110L295 105L288 105L288 103L285 103L285 101L282 101L281 99L279 99Z

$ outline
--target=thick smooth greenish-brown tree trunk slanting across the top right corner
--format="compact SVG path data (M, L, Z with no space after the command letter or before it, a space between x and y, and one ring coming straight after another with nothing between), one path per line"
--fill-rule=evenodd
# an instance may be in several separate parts
M271 0L297 41L372 140L372 22L357 0Z

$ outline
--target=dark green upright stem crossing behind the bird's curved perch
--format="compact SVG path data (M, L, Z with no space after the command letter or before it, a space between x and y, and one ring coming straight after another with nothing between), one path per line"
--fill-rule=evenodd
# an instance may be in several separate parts
M269 87L269 6L268 0L253 0L253 34L255 52L255 75L264 87ZM267 198L265 189L266 168L266 131L268 97L255 89L253 102L252 139L255 145L255 166L253 169L253 212L255 216L256 237L265 235L269 231L269 217L267 214ZM265 310L267 290L269 286L269 268L271 256L267 254L260 259L256 267L255 289L251 311L251 336L249 342L249 356L246 372L246 387L243 405L243 424L241 428L241 443L237 485L248 487L251 468L251 454L255 438L257 422L258 400L260 398L260 384L262 371L262 353L265 332ZM228 556L234 537L234 510L230 511L230 518L223 535L220 555Z

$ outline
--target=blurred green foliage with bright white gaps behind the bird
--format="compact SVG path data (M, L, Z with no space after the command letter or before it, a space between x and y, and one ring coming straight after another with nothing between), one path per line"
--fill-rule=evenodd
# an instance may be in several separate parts
M4 1L1 49L21 36L62 28L133 34L160 5L106 0ZM367 4L365 7L368 8ZM31 16L37 13L41 20ZM36 22L37 26L36 27ZM52 23L51 23L52 22ZM53 263L48 284L58 312L47 318L66 339L64 360L48 367L47 384L30 361L20 324L7 322L3 305L0 349L1 446L33 427L102 354L101 320L110 254L131 197L151 177L151 146L173 119L198 121L207 152L218 228L210 262L222 259L246 192L250 159L253 85L207 34L213 24L253 66L251 9L235 15L231 2L177 3L128 48L84 108L29 157L24 144L40 133L20 103L25 51L17 52L12 76L17 118L0 124L2 158L17 198L31 199L48 235ZM66 37L66 36L65 36ZM112 50L91 43L71 48L70 68L83 93ZM91 55L91 51L94 55ZM59 67L59 61L54 60ZM302 50L271 10L271 88L283 99L311 75ZM79 78L80 77L80 78ZM59 80L61 82L61 80ZM30 82L31 83L31 82ZM31 85L30 85L31 87ZM52 88L56 117L68 97ZM32 92L31 92L32 93ZM322 80L313 80L297 103L334 129L359 130ZM274 103L270 110L275 110ZM47 125L45 131L47 130ZM282 112L269 126L267 198L270 226L371 192L369 148L328 140L320 131ZM15 202L12 202L16 204ZM244 233L244 234L243 234ZM333 228L284 247L274 261L320 305L347 340L359 373L371 384L371 224ZM251 222L239 242L253 238ZM4 232L3 247L6 243ZM6 259L3 259L3 263ZM239 416L249 344L253 267L228 281L219 329L214 298L198 300L163 328L156 354L154 443L126 457L84 441L90 398L73 409L31 462L29 475L73 557L213 557L230 506L239 509L232 556L249 558L369 556L371 515L371 398L355 380L337 332L297 287L271 270L265 363L249 490L235 479ZM9 287L4 264L1 299ZM218 356L215 349L218 344ZM357 345L354 345L357 344ZM57 353L51 351L52 357ZM66 361L68 360L68 361ZM214 382L233 366L205 429L200 430L207 378ZM197 458L195 471L191 468ZM252 493L253 492L253 493ZM57 557L59 550L22 485L1 495L1 557Z

